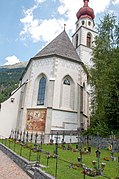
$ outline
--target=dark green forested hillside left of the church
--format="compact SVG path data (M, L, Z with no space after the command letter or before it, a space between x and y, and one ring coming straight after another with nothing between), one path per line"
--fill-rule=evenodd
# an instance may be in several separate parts
M0 68L0 103L5 101L10 93L18 87L23 68Z

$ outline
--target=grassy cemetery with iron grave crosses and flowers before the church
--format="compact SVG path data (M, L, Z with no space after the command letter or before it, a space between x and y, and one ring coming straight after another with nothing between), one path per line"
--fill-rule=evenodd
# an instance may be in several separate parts
M21 163L32 177L34 171L39 177L40 171L45 173L44 179L119 178L119 139L81 136L77 132L77 142L73 143L73 136L70 136L69 143L66 143L65 133L57 133L54 136L48 134L51 139L44 143L45 135L11 131L9 139L1 137L0 149L17 160L18 165ZM17 155L17 159L8 154L8 150Z

